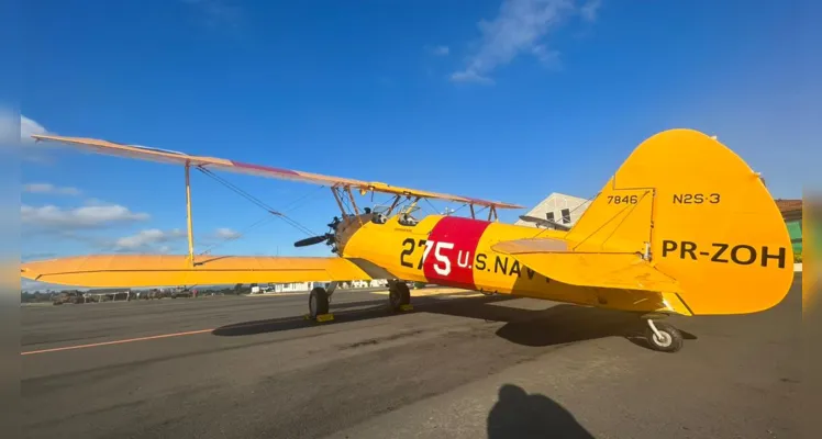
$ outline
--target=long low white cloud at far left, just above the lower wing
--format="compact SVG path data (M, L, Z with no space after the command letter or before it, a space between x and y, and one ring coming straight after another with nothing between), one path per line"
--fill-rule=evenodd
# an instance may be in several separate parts
M127 207L110 204L63 209L54 205L33 207L20 206L20 219L23 225L45 229L100 228L114 223L129 223L148 219L146 213L135 213Z

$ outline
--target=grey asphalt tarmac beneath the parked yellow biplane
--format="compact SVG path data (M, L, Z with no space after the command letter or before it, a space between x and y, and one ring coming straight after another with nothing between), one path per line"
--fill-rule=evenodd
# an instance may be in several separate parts
M673 318L341 292L23 307L25 438L797 438L801 278L776 308Z

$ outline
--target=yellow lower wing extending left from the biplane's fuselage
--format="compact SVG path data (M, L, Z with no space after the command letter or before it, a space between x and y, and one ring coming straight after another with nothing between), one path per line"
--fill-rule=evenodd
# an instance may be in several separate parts
M21 277L89 288L144 288L231 283L285 283L370 280L340 257L200 256L192 268L186 256L78 256L21 264Z

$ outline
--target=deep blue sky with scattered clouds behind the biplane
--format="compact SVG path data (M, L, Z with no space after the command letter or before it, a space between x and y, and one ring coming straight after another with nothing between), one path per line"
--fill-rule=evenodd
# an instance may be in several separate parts
M810 123L822 63L808 56L822 38L809 31L820 7L787 3L26 4L21 132L531 206L591 196L643 139L691 127L742 155L774 196L800 198L822 157ZM24 259L186 251L181 168L25 146ZM221 177L275 207L308 194L289 213L318 233L336 213L326 189ZM295 249L304 235L277 219L221 240L266 214L206 176L192 183L199 251L327 254Z

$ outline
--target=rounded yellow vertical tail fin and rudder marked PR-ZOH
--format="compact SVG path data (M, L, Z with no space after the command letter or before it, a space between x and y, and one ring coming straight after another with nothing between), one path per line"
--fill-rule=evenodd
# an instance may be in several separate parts
M758 173L691 130L643 142L566 238L575 251L647 254L695 314L769 308L793 280L790 236Z

